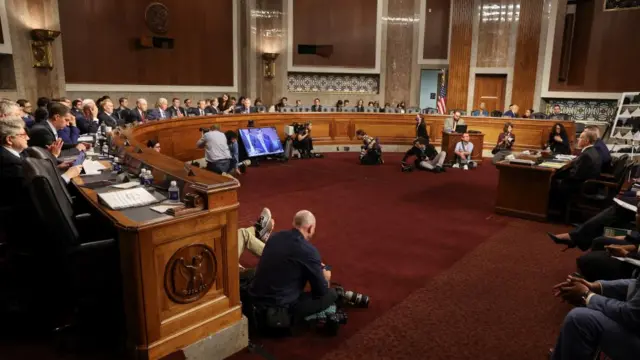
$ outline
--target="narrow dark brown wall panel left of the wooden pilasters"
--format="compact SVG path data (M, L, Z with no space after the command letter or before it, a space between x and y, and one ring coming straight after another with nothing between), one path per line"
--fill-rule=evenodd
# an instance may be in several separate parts
M449 53L450 0L426 1L423 59L446 59Z

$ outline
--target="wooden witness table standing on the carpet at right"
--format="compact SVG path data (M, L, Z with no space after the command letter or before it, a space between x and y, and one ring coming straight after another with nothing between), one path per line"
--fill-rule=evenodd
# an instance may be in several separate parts
M500 161L496 168L500 172L496 214L546 221L551 181L560 169L510 164L508 160Z

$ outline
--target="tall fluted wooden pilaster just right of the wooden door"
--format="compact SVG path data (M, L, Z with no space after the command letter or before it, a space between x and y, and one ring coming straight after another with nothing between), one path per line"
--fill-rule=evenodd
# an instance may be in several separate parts
M520 24L516 41L516 58L513 66L513 92L511 102L523 110L533 108L533 98L538 69L538 48L542 25L540 0L521 0Z

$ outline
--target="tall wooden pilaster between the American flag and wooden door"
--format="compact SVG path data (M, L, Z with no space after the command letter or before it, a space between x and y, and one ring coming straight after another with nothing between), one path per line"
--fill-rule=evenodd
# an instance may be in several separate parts
M471 64L473 0L452 0L447 108L466 109Z

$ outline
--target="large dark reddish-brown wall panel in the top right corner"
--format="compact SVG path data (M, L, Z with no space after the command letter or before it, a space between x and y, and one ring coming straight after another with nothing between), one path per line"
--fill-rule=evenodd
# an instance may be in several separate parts
M549 90L622 92L640 84L640 11L602 11L602 1L578 1L569 76L558 80L566 0L559 0Z

